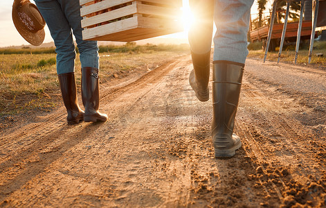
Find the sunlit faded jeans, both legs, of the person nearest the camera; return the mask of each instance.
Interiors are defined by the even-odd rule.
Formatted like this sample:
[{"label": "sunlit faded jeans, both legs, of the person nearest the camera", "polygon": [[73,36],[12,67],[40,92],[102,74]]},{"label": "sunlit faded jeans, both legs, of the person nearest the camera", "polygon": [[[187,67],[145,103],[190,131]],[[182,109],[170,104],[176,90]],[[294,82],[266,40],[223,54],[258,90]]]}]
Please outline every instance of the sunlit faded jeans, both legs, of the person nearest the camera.
[{"label": "sunlit faded jeans, both legs, of the person nearest the camera", "polygon": [[217,32],[213,60],[244,64],[248,55],[247,33],[252,5],[253,0],[190,0],[192,10],[199,13],[189,33],[192,52],[203,54],[210,51],[214,19]]}]

